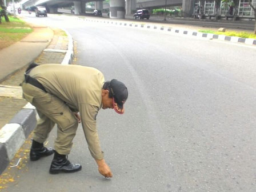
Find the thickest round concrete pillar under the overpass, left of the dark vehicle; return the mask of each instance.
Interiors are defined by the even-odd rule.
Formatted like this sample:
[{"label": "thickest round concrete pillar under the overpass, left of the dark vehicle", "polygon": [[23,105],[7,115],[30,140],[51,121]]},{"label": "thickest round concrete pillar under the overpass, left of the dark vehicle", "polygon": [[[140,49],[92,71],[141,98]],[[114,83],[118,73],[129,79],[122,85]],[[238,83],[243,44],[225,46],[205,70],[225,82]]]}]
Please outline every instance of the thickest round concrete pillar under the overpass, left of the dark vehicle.
[{"label": "thickest round concrete pillar under the overpass, left of the dark vehicle", "polygon": [[109,17],[113,19],[125,18],[125,0],[110,0],[109,2]]}]

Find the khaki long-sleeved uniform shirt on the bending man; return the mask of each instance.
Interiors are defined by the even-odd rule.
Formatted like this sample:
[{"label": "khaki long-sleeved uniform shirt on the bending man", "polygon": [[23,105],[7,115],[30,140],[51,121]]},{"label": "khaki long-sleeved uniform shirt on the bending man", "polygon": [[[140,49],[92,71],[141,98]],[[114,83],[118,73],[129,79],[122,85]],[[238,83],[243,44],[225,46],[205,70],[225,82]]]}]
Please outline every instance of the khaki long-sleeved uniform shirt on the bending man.
[{"label": "khaki long-sleeved uniform shirt on the bending man", "polygon": [[92,67],[79,65],[46,64],[31,70],[48,93],[57,96],[73,111],[79,111],[83,131],[91,155],[103,159],[96,128],[96,116],[102,103],[104,76]]}]

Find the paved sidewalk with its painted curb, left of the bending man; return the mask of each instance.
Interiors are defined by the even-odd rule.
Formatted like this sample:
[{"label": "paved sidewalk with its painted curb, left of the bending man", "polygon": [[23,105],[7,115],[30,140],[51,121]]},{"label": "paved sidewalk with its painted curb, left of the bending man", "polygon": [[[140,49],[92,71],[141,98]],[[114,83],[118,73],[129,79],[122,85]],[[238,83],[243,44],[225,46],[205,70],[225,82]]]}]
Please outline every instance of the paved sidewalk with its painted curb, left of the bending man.
[{"label": "paved sidewalk with its painted curb, left of the bending man", "polygon": [[27,65],[73,60],[73,39],[66,32],[46,26],[33,26],[33,33],[0,50],[0,174],[9,166],[36,125],[36,111],[22,98],[19,83]]}]

